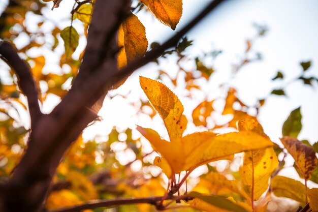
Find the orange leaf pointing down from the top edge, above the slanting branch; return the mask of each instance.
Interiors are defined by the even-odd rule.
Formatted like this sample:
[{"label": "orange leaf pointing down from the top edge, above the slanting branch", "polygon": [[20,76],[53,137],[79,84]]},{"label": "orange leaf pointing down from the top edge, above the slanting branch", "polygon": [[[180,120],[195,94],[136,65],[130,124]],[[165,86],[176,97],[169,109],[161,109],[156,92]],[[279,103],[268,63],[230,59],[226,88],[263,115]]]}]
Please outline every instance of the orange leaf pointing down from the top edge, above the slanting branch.
[{"label": "orange leaf pointing down from the top edge, above the slanting branch", "polygon": [[173,30],[176,28],[182,15],[182,0],[140,0],[140,2],[145,4],[163,24]]}]

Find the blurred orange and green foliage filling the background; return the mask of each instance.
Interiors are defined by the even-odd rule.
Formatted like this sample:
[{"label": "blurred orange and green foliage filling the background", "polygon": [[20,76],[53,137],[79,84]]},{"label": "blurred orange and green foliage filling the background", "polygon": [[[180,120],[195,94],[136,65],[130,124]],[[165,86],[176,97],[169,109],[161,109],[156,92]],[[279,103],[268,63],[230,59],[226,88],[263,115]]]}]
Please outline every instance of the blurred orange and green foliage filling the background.
[{"label": "blurred orange and green foliage filling the background", "polygon": [[[61,1],[53,2],[53,8],[56,8]],[[169,1],[164,2],[167,3],[165,6],[169,7]],[[23,35],[27,37],[24,46],[19,47],[17,50],[31,68],[34,80],[37,83],[38,89],[41,91],[40,99],[42,103],[46,101],[48,95],[55,95],[59,98],[65,96],[81,64],[84,50],[78,54],[78,58],[75,58],[73,53],[78,47],[80,38],[87,38],[87,29],[91,20],[94,3],[93,1],[75,1],[75,3],[73,10],[70,11],[71,24],[65,28],[59,28],[57,23],[46,18],[43,14],[43,9],[48,7],[48,4],[43,4],[42,1],[38,0],[10,1],[8,8],[0,18],[0,37],[2,39],[18,43],[17,40],[19,36]],[[181,17],[181,14],[173,14],[172,19],[167,19],[167,17],[156,8],[156,5],[151,5],[151,1],[141,1],[137,3],[133,1],[133,3],[136,5],[136,7],[132,8],[134,14],[142,10],[150,10],[158,20],[170,26],[172,29],[176,27]],[[163,10],[163,8],[161,8],[161,10]],[[164,10],[168,11],[167,8],[164,8]],[[176,11],[179,10],[180,8],[177,8]],[[35,28],[29,27],[30,20],[28,19],[31,17],[37,17],[37,22],[32,23]],[[123,23],[123,26],[121,26],[123,28],[123,34],[121,35],[122,43],[121,46],[119,46],[124,52],[123,57],[121,57],[121,59],[123,59],[123,65],[119,66],[120,68],[126,66],[127,63],[134,58],[142,56],[148,46],[142,23],[138,20],[137,16],[133,15],[131,17],[131,22],[126,21]],[[82,24],[84,33],[78,33],[75,26],[73,26],[73,21],[76,20]],[[138,27],[132,27],[134,24],[138,24]],[[236,74],[239,73],[245,65],[262,59],[261,54],[255,51],[253,47],[258,39],[266,35],[267,27],[255,24],[255,28],[257,31],[256,36],[245,41],[245,51],[242,52],[239,63],[233,66],[231,78],[235,78]],[[138,34],[141,31],[143,32],[142,35]],[[143,40],[143,46],[140,47],[139,50],[133,49],[132,46],[127,44],[129,41],[135,42],[135,44],[138,43],[138,39],[134,40],[136,37],[128,37],[130,33],[136,33],[135,35],[139,36],[137,36],[138,39]],[[61,41],[65,47],[65,51],[63,51],[62,54],[59,53],[58,48]],[[266,99],[270,97],[270,95],[285,96],[284,89],[295,81],[300,81],[304,85],[312,87],[316,87],[316,82],[318,82],[316,77],[313,75],[310,76],[311,62],[305,61],[300,63],[302,68],[300,76],[287,83],[280,83],[281,87],[274,88],[267,97],[256,100],[257,103],[255,105],[247,105],[241,101],[237,89],[227,82],[220,85],[220,90],[223,92],[223,95],[215,99],[210,99],[207,94],[204,94],[203,84],[211,81],[213,77],[217,77],[215,73],[217,73],[218,70],[214,62],[218,59],[218,56],[222,54],[222,51],[215,49],[211,52],[203,52],[201,55],[190,56],[188,49],[190,49],[192,44],[193,41],[184,37],[175,48],[167,50],[160,58],[156,59],[156,63],[161,64],[172,56],[176,58],[175,63],[178,68],[174,76],[167,70],[159,70],[157,80],[163,80],[166,84],[172,85],[171,87],[173,88],[181,87],[184,89],[184,96],[188,98],[188,101],[195,99],[195,92],[202,92],[203,96],[206,96],[206,98],[193,109],[189,117],[184,116],[185,120],[187,119],[185,124],[183,123],[185,128],[187,125],[193,125],[198,131],[204,130],[211,133],[218,133],[220,130],[236,130],[237,123],[241,123],[239,121],[242,120],[251,120],[250,123],[258,123],[257,116],[259,110],[264,106]],[[159,44],[155,42],[150,44],[149,48],[155,49],[158,45]],[[36,51],[38,55],[34,56],[30,53],[30,50]],[[47,57],[42,54],[44,50],[58,58],[60,71],[43,71],[48,65]],[[286,76],[287,73],[278,71],[272,80],[281,80],[282,82]],[[22,117],[19,115],[25,113],[27,107],[25,106],[25,98],[17,86],[17,78],[13,70],[7,68],[7,72],[0,75],[0,77],[3,78],[0,81],[0,181],[5,181],[10,177],[12,171],[14,171],[14,167],[18,164],[26,149],[28,126],[23,125]],[[150,84],[150,86],[154,85]],[[161,89],[169,90],[166,86],[161,86]],[[172,92],[167,93],[172,96],[174,95]],[[130,93],[122,97],[131,100],[129,95]],[[154,105],[153,102],[150,102],[143,99],[134,99],[131,100],[130,104],[135,107],[136,116],[146,115],[152,119],[155,117],[158,108],[154,109],[152,107],[152,105]],[[217,102],[224,103],[224,107],[219,109],[220,107],[215,105]],[[161,111],[161,113],[163,113],[163,111]],[[170,123],[171,120],[167,122]],[[248,125],[252,126],[256,124]],[[245,130],[257,131],[256,133],[267,138],[263,129],[262,131],[258,131],[256,130],[256,126],[251,126],[245,126]],[[318,169],[316,167],[316,156],[314,152],[312,152],[313,150],[311,151],[311,149],[314,149],[317,153],[317,143],[312,146],[310,142],[307,141],[305,147],[305,144],[300,144],[300,141],[297,140],[297,136],[301,128],[301,113],[300,108],[297,108],[292,111],[282,126],[282,135],[294,137],[285,138],[293,143],[284,144],[284,147],[294,157],[294,167],[300,177],[305,177],[305,179],[317,183]],[[124,139],[121,135],[125,135],[123,136]],[[296,141],[294,139],[296,139]],[[69,148],[57,168],[46,201],[47,208],[56,209],[72,206],[92,199],[162,196],[165,195],[169,189],[173,188],[173,183],[175,184],[174,186],[178,185],[182,178],[186,186],[180,185],[178,187],[178,193],[183,194],[192,190],[194,192],[192,192],[190,196],[195,197],[195,200],[181,203],[181,205],[190,205],[191,207],[187,207],[186,209],[172,209],[172,211],[197,211],[197,209],[215,211],[216,207],[218,207],[218,211],[251,211],[252,207],[253,211],[266,211],[267,203],[271,200],[271,198],[269,198],[271,193],[277,196],[295,199],[301,202],[302,205],[307,202],[307,197],[303,193],[300,193],[299,190],[295,190],[296,187],[299,187],[300,190],[305,191],[307,188],[305,188],[302,183],[290,178],[284,180],[284,178],[276,176],[278,172],[284,168],[286,154],[284,154],[283,151],[287,152],[277,144],[274,148],[269,148],[270,150],[246,152],[243,160],[244,166],[241,166],[240,172],[238,171],[238,167],[240,167],[242,161],[242,154],[236,155],[234,159],[231,160],[221,160],[219,163],[212,162],[204,164],[203,167],[208,170],[208,173],[202,173],[198,177],[189,177],[189,170],[183,171],[180,174],[173,174],[172,177],[168,176],[171,180],[171,187],[169,188],[167,176],[162,173],[160,168],[152,163],[158,154],[151,150],[145,151],[143,148],[144,141],[136,129],[126,128],[119,130],[115,126],[107,137],[101,138],[96,136],[96,139],[84,140],[80,136]],[[296,143],[300,147],[295,149],[293,146],[296,146]],[[158,152],[161,153],[160,151]],[[244,171],[252,167],[253,174],[258,174],[259,177],[261,174],[264,175],[264,172],[260,171],[261,169],[265,169],[265,164],[262,163],[267,163],[269,158],[276,158],[274,153],[279,157],[280,163],[278,167],[277,164],[275,164],[276,166],[273,167],[270,172],[265,173],[268,178],[273,179],[271,180],[270,186],[266,183],[261,185],[260,194],[256,198],[253,194],[251,195],[251,188],[258,189],[260,185],[257,185],[257,181],[250,180],[250,176],[246,175]],[[308,162],[306,160],[309,157],[308,154],[312,159],[310,167],[307,166],[308,164],[306,165]],[[123,163],[120,157],[126,155],[131,156],[129,157],[131,161]],[[281,157],[282,155],[284,155],[283,158]],[[268,156],[266,160],[265,156]],[[251,159],[255,161],[251,162]],[[219,164],[222,163],[226,165],[220,169]],[[256,173],[254,173],[254,170],[256,170]],[[248,180],[246,181],[246,179]],[[309,198],[314,197],[312,194],[317,194],[314,193],[316,192],[314,190],[310,190],[310,192],[311,197],[309,196]],[[262,196],[262,194],[264,195]],[[251,201],[253,198],[256,198],[258,201]],[[177,205],[180,204],[169,202],[169,206]],[[85,211],[104,211],[104,209],[98,208]],[[149,204],[139,204],[118,206],[116,210],[112,211],[150,212],[156,210]]]}]

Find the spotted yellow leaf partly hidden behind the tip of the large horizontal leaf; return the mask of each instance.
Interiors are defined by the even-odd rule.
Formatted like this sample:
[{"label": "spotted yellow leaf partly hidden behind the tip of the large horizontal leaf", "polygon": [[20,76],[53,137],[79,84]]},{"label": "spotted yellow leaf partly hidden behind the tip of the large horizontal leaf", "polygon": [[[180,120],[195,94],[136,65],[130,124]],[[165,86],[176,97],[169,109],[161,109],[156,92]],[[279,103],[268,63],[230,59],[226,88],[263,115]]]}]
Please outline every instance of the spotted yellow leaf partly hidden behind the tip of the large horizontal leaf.
[{"label": "spotted yellow leaf partly hidden behind the tip of the large horizontal leaf", "polygon": [[[255,132],[269,139],[255,119],[241,120],[238,129],[241,132]],[[272,147],[245,152],[243,166],[240,168],[241,183],[253,200],[258,200],[267,190],[269,178],[277,166],[278,159]]]}]

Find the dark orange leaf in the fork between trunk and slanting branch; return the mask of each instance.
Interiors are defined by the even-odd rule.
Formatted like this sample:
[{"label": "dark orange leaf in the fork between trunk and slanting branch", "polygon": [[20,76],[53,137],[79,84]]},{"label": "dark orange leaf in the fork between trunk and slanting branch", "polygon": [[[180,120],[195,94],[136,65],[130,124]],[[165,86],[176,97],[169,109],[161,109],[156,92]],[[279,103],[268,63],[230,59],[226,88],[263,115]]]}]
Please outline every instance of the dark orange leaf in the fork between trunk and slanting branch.
[{"label": "dark orange leaf in the fork between trunk and slanting branch", "polygon": [[[136,15],[131,14],[119,26],[117,44],[120,48],[117,55],[118,69],[122,69],[146,53],[148,48],[146,29]],[[126,79],[121,80],[114,88],[119,87]]]}]

